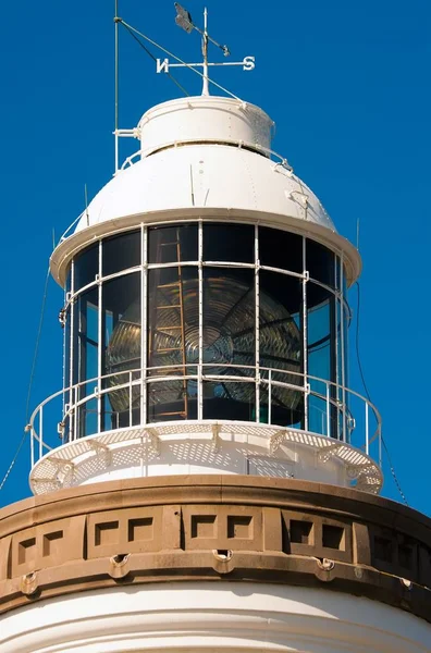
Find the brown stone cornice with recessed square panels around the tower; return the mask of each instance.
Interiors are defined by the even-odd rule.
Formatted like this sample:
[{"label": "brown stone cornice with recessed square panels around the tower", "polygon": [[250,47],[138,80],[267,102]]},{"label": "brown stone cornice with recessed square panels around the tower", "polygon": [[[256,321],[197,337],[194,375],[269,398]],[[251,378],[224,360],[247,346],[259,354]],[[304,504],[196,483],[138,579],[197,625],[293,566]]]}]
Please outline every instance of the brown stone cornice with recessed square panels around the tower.
[{"label": "brown stone cornice with recessed square panels around the tower", "polygon": [[116,584],[233,580],[364,595],[431,621],[431,520],[306,481],[113,481],[0,510],[0,612]]}]

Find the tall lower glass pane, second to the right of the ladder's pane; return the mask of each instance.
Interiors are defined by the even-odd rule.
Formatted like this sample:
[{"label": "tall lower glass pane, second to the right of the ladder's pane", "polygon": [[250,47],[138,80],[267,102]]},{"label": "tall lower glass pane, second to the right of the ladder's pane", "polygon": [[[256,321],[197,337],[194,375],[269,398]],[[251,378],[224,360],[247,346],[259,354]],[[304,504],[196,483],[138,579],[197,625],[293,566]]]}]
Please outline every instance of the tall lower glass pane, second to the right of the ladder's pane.
[{"label": "tall lower glass pane, second to the right of the ladder's pane", "polygon": [[260,421],[269,412],[269,395],[272,423],[295,424],[303,416],[303,392],[278,385],[304,385],[301,284],[285,274],[264,270],[259,273],[260,367],[262,379],[271,379],[271,384],[262,384]]}]

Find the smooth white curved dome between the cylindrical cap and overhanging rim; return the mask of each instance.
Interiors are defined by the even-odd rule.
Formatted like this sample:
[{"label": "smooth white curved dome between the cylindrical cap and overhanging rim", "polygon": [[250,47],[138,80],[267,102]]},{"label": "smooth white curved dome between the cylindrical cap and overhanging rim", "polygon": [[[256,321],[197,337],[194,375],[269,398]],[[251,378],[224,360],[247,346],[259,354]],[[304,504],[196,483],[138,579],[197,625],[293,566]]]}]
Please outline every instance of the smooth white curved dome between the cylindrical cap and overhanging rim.
[{"label": "smooth white curved dome between the cylindrical cap and overhanging rim", "polygon": [[121,171],[90,202],[76,232],[123,217],[200,207],[278,213],[335,231],[316,195],[280,163],[206,144],[172,147]]}]

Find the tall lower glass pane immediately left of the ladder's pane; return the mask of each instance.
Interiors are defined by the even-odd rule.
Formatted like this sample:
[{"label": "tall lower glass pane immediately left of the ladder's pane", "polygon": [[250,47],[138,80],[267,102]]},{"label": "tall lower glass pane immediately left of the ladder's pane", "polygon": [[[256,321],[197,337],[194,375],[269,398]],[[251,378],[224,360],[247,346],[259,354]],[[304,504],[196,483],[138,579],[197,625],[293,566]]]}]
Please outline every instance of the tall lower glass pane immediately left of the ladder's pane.
[{"label": "tall lower glass pane immediately left of the ladder's pane", "polygon": [[140,273],[119,276],[103,284],[102,373],[106,429],[128,427],[140,419]]}]

